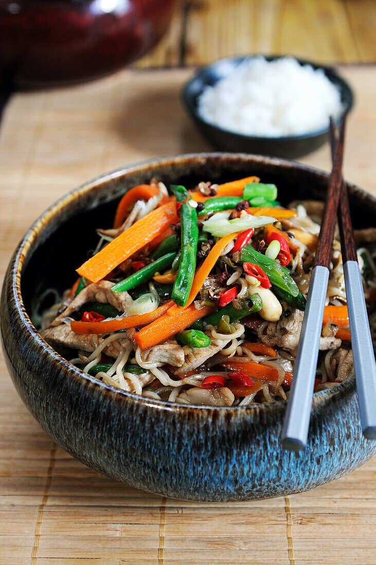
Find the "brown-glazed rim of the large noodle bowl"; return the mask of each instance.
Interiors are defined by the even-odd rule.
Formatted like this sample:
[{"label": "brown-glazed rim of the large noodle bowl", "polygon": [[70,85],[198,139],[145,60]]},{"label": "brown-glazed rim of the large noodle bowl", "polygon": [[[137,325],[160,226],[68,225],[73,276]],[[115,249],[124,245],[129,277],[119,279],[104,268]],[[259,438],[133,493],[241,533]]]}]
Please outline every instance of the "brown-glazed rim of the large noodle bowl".
[{"label": "brown-glazed rim of the large noodle bowl", "polygon": [[[302,171],[310,172],[310,173],[319,173],[319,175],[323,175],[329,178],[329,173],[325,171],[321,171],[320,169],[314,167],[308,167],[304,164],[295,163],[293,161],[279,159],[279,158],[272,158],[272,157],[265,157],[263,155],[252,155],[252,154],[245,154],[245,153],[192,153],[192,154],[184,154],[184,155],[176,155],[172,157],[162,157],[159,159],[152,159],[152,160],[145,160],[134,165],[121,167],[111,171],[109,173],[104,173],[103,175],[98,175],[94,177],[92,180],[84,182],[77,188],[71,190],[67,194],[63,195],[57,201],[55,201],[51,206],[46,208],[44,212],[34,221],[28,231],[25,233],[23,239],[20,241],[18,247],[15,250],[14,257],[11,260],[10,264],[10,273],[8,275],[8,279],[11,279],[12,285],[12,294],[15,301],[15,306],[19,314],[19,319],[23,325],[25,331],[29,333],[31,338],[37,344],[38,348],[46,351],[47,354],[50,355],[51,360],[54,363],[57,363],[66,373],[66,376],[70,379],[80,379],[82,384],[85,383],[92,384],[97,388],[101,389],[103,393],[110,393],[113,399],[117,402],[128,402],[132,401],[138,404],[142,404],[144,406],[149,406],[150,408],[159,408],[165,409],[168,411],[200,411],[200,412],[207,412],[208,414],[215,411],[228,411],[232,412],[232,414],[238,414],[239,417],[241,414],[247,412],[250,414],[251,412],[267,412],[270,410],[273,411],[280,411],[284,412],[286,408],[287,401],[276,401],[273,403],[265,403],[260,405],[253,405],[253,406],[197,406],[197,405],[180,405],[174,402],[167,402],[158,399],[151,399],[147,397],[139,396],[138,394],[127,392],[125,390],[121,390],[116,388],[113,385],[103,383],[102,381],[96,379],[96,377],[89,375],[88,373],[84,373],[78,367],[70,363],[67,359],[62,357],[57,351],[53,349],[47,342],[42,338],[41,334],[37,331],[37,329],[32,324],[29,315],[24,306],[22,294],[21,294],[21,273],[24,267],[25,258],[27,257],[29,248],[31,247],[34,241],[37,241],[38,235],[46,227],[46,225],[53,221],[56,215],[59,214],[65,207],[74,206],[74,203],[77,199],[92,192],[101,184],[105,184],[108,181],[116,179],[118,177],[136,173],[147,171],[148,169],[155,167],[155,166],[166,166],[168,164],[173,165],[174,163],[177,164],[179,161],[183,162],[184,160],[192,160],[192,159],[205,159],[205,158],[224,158],[224,159],[245,159],[245,160],[252,160],[253,162],[260,161],[262,163],[267,162],[267,164],[274,164],[276,166],[283,165],[286,167],[291,168],[299,168]],[[358,188],[355,185],[350,185],[355,189],[359,194],[363,195],[364,197],[368,197],[371,200],[375,200],[376,198],[373,195],[366,193],[364,190]],[[116,195],[109,195],[108,201],[111,201],[116,198]],[[344,383],[340,383],[332,388],[321,390],[319,392],[314,393],[313,395],[313,405],[318,407],[323,405],[325,401],[329,400],[333,396],[337,394],[347,394],[348,392],[353,392],[355,390],[355,379],[351,379],[349,381],[345,381]]]}]

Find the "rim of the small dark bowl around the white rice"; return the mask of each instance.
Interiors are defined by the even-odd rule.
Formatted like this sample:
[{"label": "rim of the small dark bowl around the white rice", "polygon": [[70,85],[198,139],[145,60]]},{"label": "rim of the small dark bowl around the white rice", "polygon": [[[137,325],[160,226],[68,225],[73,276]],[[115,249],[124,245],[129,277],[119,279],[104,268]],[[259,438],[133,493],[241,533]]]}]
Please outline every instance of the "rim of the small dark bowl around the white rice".
[{"label": "rim of the small dark bowl around the white rice", "polygon": [[[218,67],[221,64],[224,64],[226,62],[233,62],[233,63],[235,63],[236,66],[238,66],[243,61],[254,59],[257,56],[260,56],[260,54],[244,55],[244,56],[237,56],[237,57],[229,56],[229,57],[224,57],[222,59],[217,59],[214,62],[209,63],[208,65],[205,65],[204,67],[200,67],[200,69],[198,69],[198,71],[195,73],[195,75],[185,83],[183,90],[181,92],[181,98],[183,99],[184,106],[187,108],[188,113],[192,116],[192,118],[195,119],[196,121],[202,123],[202,124],[209,126],[214,131],[226,133],[227,135],[236,137],[237,140],[243,141],[243,142],[245,142],[245,141],[255,141],[255,142],[257,142],[257,141],[275,141],[275,142],[304,141],[304,140],[309,140],[311,138],[319,137],[319,136],[322,136],[323,134],[328,133],[329,132],[329,125],[328,125],[327,128],[321,128],[321,129],[317,129],[313,132],[301,133],[301,134],[291,135],[291,136],[248,136],[248,135],[245,135],[244,133],[238,133],[238,132],[236,132],[232,129],[222,128],[221,126],[216,125],[213,122],[206,120],[205,118],[203,118],[199,114],[199,112],[197,111],[197,102],[196,102],[197,95],[193,94],[191,92],[192,85],[194,85],[195,82],[198,79],[202,79],[202,77],[205,77],[208,74],[208,71],[210,71],[210,69],[215,69],[215,67]],[[284,57],[289,56],[289,55],[262,55],[262,56],[265,56],[265,59],[267,61],[272,61],[272,60],[276,60],[276,59],[283,59]],[[345,94],[345,97],[348,98],[347,101],[346,100],[342,101],[344,112],[350,112],[352,110],[352,108],[354,106],[354,100],[355,100],[353,90],[352,90],[351,86],[348,84],[348,82],[345,81],[342,78],[342,76],[340,76],[336,72],[334,67],[327,66],[327,65],[321,65],[321,64],[314,63],[314,62],[306,60],[306,59],[296,59],[296,60],[301,66],[308,64],[308,65],[312,66],[314,69],[322,69],[325,72],[326,77],[330,80],[330,82],[332,82],[332,84],[334,84],[337,88],[339,88],[340,94],[341,94],[341,99],[343,97],[343,94]],[[206,81],[203,80],[202,82],[205,83]],[[218,80],[215,81],[215,82],[218,82]],[[208,83],[206,82],[206,84],[208,84]],[[339,118],[337,118],[335,120],[337,125],[340,121],[340,117],[341,116],[339,116]]]}]

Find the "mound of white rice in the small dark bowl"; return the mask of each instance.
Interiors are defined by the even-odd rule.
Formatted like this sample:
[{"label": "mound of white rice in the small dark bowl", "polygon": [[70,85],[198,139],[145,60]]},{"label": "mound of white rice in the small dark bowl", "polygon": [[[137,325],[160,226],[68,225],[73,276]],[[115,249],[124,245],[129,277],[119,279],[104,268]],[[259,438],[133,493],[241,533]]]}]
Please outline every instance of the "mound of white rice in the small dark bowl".
[{"label": "mound of white rice in the small dark bowl", "polygon": [[282,137],[329,127],[342,113],[339,90],[322,69],[284,57],[246,59],[198,99],[211,124],[250,136]]}]

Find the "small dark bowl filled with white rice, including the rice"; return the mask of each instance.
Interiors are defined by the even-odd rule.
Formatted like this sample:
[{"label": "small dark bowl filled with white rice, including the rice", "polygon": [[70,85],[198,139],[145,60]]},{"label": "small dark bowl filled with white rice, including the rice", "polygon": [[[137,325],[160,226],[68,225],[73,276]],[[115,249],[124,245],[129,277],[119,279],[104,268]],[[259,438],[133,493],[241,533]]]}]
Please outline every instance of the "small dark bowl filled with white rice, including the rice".
[{"label": "small dark bowl filled with white rice, including the rice", "polygon": [[327,141],[353,93],[332,68],[292,57],[226,58],[202,68],[183,100],[219,150],[295,159]]}]

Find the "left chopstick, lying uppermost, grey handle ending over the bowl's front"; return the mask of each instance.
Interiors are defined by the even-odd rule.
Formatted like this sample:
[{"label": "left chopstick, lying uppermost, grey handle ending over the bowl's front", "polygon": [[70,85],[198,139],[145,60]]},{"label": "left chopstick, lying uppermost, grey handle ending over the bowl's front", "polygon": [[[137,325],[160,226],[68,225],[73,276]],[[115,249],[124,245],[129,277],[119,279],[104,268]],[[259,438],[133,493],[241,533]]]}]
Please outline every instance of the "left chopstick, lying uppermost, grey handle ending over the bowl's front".
[{"label": "left chopstick, lying uppermost, grey handle ending over the bowl's front", "polygon": [[329,280],[332,241],[342,189],[345,121],[346,116],[344,115],[339,128],[339,141],[336,146],[334,165],[326,194],[318,249],[309,284],[291,390],[282,430],[282,445],[285,449],[291,451],[304,449],[308,438],[314,378],[316,375],[322,319]]}]

